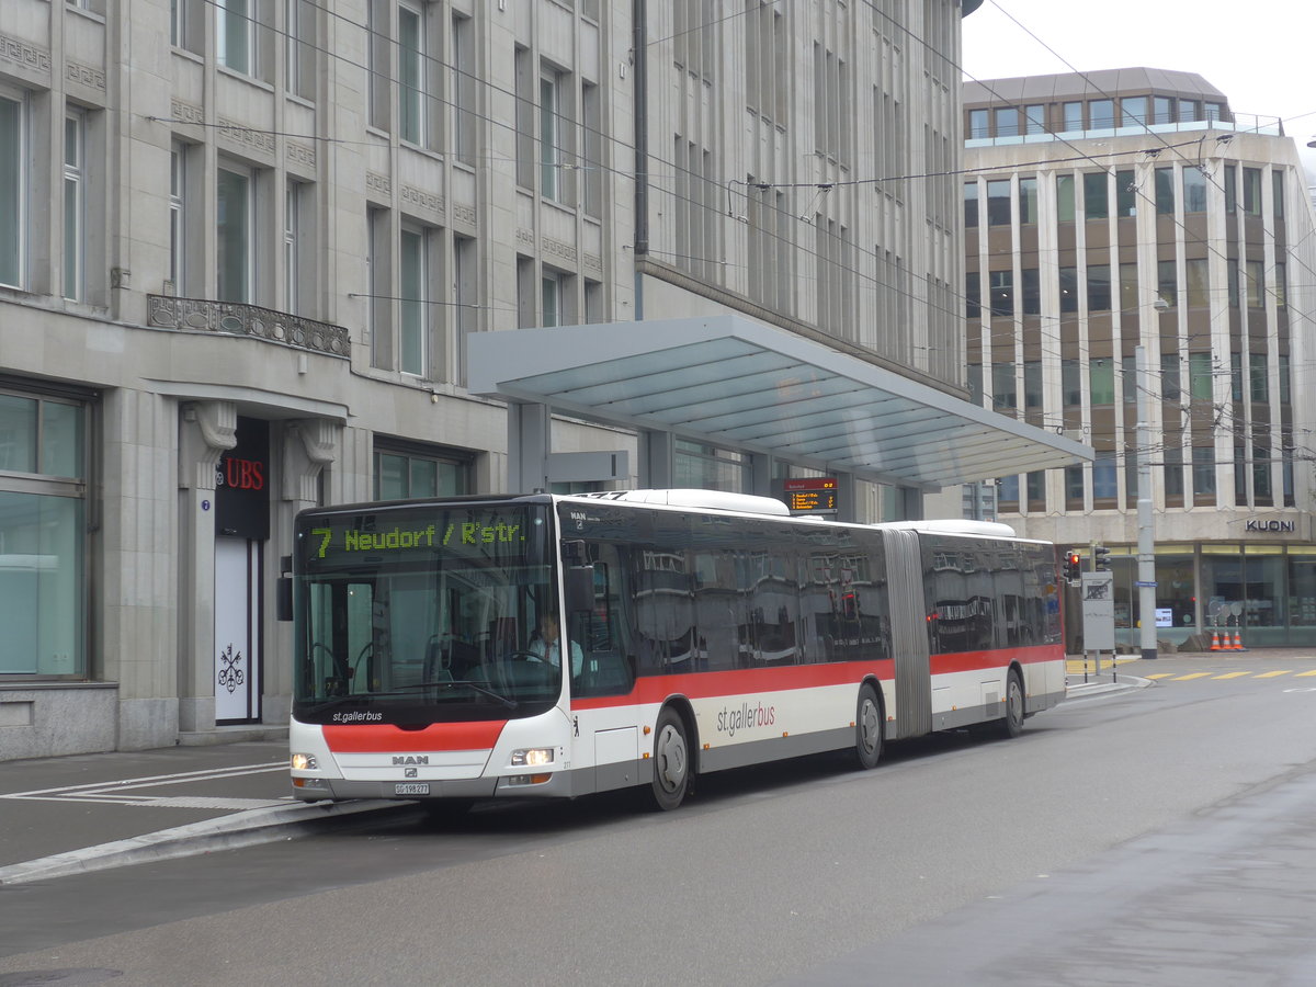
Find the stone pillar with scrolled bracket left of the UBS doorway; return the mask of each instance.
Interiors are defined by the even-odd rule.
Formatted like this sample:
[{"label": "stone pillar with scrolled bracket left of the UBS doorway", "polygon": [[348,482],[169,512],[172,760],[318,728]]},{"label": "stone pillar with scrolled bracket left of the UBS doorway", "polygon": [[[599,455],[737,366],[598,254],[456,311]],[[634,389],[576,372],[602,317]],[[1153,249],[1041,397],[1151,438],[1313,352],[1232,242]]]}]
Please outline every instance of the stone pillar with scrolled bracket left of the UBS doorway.
[{"label": "stone pillar with scrolled bracket left of the UBS doorway", "polygon": [[179,422],[178,719],[183,732],[215,729],[215,474],[237,445],[232,401],[183,405]]}]

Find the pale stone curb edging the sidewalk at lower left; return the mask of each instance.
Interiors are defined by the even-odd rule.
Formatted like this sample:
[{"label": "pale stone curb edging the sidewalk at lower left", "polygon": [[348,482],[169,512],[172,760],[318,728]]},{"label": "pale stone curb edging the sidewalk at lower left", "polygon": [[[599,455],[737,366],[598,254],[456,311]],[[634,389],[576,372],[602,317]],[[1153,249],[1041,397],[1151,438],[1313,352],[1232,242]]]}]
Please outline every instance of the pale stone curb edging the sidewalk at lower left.
[{"label": "pale stone curb edging the sidewalk at lower left", "polygon": [[290,830],[308,830],[326,819],[354,816],[383,808],[397,808],[397,803],[387,799],[362,799],[355,801],[300,803],[296,805],[275,805],[271,808],[247,809],[229,816],[190,822],[186,826],[159,829],[154,833],[134,836],[128,840],[114,840],[108,844],[87,846],[82,850],[57,853],[34,861],[12,863],[0,867],[0,887],[26,884],[33,880],[66,878],[72,874],[124,867],[132,863],[168,861],[178,857],[192,857],[216,850],[234,850],[242,846],[268,844],[275,840],[291,838]]}]

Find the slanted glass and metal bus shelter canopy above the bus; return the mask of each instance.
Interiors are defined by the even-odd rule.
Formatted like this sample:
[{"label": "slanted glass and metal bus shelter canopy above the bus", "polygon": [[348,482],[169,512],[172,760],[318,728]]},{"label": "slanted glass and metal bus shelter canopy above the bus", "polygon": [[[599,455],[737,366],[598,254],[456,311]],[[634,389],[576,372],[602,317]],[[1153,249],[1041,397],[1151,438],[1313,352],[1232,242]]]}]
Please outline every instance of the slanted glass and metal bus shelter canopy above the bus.
[{"label": "slanted glass and metal bus shelter canopy above the bus", "polygon": [[934,490],[1090,446],[740,316],[467,337],[472,393]]}]

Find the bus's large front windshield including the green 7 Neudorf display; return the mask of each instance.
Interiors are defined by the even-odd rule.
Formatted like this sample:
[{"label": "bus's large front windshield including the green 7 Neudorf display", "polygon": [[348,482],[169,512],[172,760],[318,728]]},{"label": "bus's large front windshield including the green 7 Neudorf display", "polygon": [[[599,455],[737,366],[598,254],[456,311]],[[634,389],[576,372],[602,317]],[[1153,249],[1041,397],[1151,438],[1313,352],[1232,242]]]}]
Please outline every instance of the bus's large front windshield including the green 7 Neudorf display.
[{"label": "bus's large front windshield including the green 7 Neudorf display", "polygon": [[[301,722],[530,716],[562,690],[546,504],[401,504],[297,521]],[[547,654],[546,654],[547,653]]]}]

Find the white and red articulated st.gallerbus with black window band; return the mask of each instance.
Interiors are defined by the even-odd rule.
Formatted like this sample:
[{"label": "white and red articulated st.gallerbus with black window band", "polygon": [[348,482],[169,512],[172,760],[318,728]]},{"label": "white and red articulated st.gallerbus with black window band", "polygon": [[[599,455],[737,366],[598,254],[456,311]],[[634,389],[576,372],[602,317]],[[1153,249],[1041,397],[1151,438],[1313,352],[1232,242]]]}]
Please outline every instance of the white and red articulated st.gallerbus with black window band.
[{"label": "white and red articulated st.gallerbus with black window band", "polygon": [[[1065,697],[1051,545],[711,491],[303,512],[293,794],[565,796],[990,724]],[[551,616],[566,644],[553,644]],[[546,634],[550,641],[545,641]]]}]

